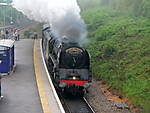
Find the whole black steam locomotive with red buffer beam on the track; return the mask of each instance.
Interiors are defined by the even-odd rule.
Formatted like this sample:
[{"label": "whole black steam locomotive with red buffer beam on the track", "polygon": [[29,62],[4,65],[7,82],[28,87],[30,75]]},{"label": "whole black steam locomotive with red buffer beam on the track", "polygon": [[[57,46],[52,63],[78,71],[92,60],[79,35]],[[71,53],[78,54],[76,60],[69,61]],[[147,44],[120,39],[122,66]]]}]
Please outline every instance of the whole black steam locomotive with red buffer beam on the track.
[{"label": "whole black steam locomotive with red buffer beam on the track", "polygon": [[88,52],[66,37],[56,38],[48,26],[42,31],[42,49],[55,87],[84,95],[92,81]]}]

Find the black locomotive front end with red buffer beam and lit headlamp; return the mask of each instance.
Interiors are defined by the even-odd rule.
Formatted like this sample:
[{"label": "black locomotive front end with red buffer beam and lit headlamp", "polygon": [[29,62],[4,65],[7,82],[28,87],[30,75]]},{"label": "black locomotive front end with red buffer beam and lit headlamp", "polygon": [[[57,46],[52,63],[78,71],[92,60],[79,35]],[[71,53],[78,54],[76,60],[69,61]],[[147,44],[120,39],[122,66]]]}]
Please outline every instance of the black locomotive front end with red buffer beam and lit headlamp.
[{"label": "black locomotive front end with red buffer beam and lit headlamp", "polygon": [[88,52],[79,47],[66,48],[60,54],[59,87],[82,91],[90,87],[92,75]]}]

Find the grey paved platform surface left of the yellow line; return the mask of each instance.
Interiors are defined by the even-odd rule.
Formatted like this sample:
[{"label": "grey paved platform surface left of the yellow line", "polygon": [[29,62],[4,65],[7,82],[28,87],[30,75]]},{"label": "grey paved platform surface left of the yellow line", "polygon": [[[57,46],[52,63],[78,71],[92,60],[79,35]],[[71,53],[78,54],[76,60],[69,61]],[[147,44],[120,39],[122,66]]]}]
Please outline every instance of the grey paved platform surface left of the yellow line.
[{"label": "grey paved platform surface left of the yellow line", "polygon": [[0,113],[43,113],[34,71],[34,41],[20,40],[15,46],[16,70],[2,79]]}]

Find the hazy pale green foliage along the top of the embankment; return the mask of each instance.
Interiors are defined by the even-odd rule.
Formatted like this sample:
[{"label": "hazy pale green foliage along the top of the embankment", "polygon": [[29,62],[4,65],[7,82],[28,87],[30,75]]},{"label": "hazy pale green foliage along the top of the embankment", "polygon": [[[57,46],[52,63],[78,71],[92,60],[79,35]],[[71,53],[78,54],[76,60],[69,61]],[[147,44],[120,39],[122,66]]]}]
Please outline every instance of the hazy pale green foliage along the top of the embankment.
[{"label": "hazy pale green foliage along the top of the embankment", "polygon": [[150,18],[150,0],[78,0],[81,9],[107,6],[124,15]]}]

